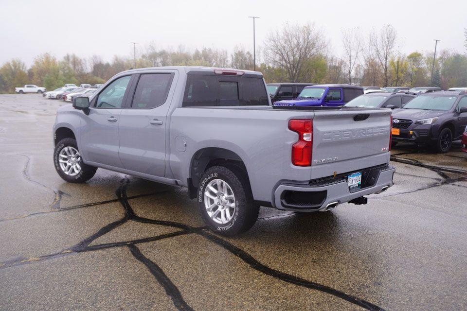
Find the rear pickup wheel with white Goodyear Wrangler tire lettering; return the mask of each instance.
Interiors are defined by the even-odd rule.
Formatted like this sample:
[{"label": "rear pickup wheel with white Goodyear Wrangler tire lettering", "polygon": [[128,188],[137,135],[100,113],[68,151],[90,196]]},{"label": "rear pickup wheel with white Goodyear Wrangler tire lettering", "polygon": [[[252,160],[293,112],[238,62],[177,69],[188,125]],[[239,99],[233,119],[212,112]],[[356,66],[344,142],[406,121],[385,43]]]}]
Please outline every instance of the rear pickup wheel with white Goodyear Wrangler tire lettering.
[{"label": "rear pickup wheel with white Goodyear Wrangler tire lettering", "polygon": [[259,213],[246,174],[221,165],[208,168],[201,177],[198,206],[206,225],[224,236],[247,231]]}]

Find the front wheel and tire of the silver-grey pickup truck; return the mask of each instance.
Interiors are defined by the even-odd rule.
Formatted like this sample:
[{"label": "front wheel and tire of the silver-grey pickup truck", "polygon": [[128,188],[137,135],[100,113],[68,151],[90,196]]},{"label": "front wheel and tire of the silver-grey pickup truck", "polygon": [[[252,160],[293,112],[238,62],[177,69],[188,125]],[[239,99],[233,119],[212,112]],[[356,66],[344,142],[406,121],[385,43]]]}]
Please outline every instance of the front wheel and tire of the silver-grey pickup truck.
[{"label": "front wheel and tire of the silver-grey pickup truck", "polygon": [[56,144],[54,166],[58,175],[69,183],[84,183],[97,171],[96,167],[84,164],[74,138],[63,138]]}]

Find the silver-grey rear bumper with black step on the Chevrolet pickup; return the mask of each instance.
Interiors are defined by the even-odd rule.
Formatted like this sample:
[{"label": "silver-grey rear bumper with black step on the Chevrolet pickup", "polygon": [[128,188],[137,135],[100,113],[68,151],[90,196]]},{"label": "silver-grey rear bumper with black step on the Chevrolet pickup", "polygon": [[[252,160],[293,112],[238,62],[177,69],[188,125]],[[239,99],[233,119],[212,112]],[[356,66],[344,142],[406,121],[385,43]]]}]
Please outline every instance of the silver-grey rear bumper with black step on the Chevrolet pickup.
[{"label": "silver-grey rear bumper with black step on the Chevrolet pickup", "polygon": [[328,177],[307,185],[282,183],[273,195],[274,206],[282,210],[292,211],[324,211],[328,205],[347,203],[363,195],[382,192],[393,185],[395,167],[382,165],[360,170],[363,172],[362,188],[349,190],[346,176],[341,174],[335,178]]}]

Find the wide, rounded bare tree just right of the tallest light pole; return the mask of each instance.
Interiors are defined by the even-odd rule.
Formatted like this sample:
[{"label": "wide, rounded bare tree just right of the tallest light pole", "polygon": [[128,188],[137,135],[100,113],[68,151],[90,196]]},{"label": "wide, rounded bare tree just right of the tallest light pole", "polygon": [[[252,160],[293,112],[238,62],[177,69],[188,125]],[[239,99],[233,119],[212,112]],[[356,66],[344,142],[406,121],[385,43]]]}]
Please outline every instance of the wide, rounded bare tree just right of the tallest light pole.
[{"label": "wide, rounded bare tree just right of the tallest light pole", "polygon": [[265,41],[265,59],[270,65],[283,68],[290,82],[298,82],[304,75],[305,62],[326,48],[324,37],[314,24],[287,23],[282,30],[269,33]]}]

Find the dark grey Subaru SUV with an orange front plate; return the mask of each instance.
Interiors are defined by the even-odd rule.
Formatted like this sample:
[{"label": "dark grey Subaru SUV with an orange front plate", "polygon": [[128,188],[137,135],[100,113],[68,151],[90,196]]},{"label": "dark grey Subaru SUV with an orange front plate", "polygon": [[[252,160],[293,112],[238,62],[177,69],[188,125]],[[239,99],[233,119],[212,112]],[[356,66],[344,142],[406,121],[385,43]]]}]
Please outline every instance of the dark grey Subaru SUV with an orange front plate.
[{"label": "dark grey Subaru SUV with an orange front plate", "polygon": [[467,92],[421,94],[393,112],[393,146],[398,141],[431,143],[446,153],[467,125]]}]

